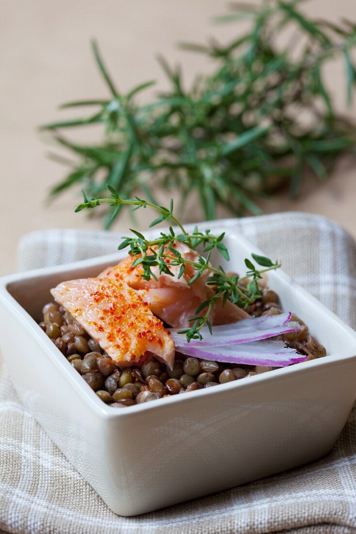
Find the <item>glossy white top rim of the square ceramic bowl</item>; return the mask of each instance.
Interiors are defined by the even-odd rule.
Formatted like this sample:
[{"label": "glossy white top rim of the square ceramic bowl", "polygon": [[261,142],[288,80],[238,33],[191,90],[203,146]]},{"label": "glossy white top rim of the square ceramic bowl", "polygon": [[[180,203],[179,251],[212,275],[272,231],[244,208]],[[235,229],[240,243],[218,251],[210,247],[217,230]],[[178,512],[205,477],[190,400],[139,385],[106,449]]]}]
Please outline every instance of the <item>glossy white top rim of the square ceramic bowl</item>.
[{"label": "glossy white top rim of the square ceramic bowl", "polygon": [[[226,227],[223,225],[221,225],[220,227],[218,225],[214,226],[215,231],[225,232],[228,237],[238,239],[244,246],[250,249],[250,252],[263,255],[263,252],[258,247],[251,244],[248,239],[243,237],[241,234],[236,234],[236,232],[234,232],[233,230],[233,227]],[[165,229],[162,228],[159,231],[164,230]],[[157,233],[157,231],[150,232],[150,234],[152,235],[154,235],[155,233]],[[118,239],[120,239],[120,237],[118,237]],[[164,409],[164,407],[167,407],[172,403],[191,402],[192,400],[194,400],[194,398],[204,397],[205,395],[217,395],[219,393],[224,393],[225,391],[229,391],[231,389],[250,387],[259,382],[279,380],[283,376],[288,376],[292,373],[305,373],[308,372],[308,370],[313,369],[314,367],[330,366],[335,365],[336,363],[341,362],[342,360],[352,358],[356,359],[356,332],[350,326],[346,325],[344,321],[339,319],[334,312],[330,311],[318,299],[316,299],[313,295],[307,292],[306,289],[300,286],[298,282],[292,279],[286,272],[284,272],[282,269],[279,269],[278,271],[274,271],[272,273],[273,276],[283,280],[284,282],[287,282],[288,285],[292,286],[292,292],[298,292],[302,294],[308,302],[316,305],[321,313],[328,316],[329,320],[333,320],[339,328],[344,329],[345,333],[347,333],[353,339],[354,345],[352,349],[344,352],[338,352],[337,354],[330,354],[315,360],[300,362],[297,365],[280,367],[278,369],[273,370],[273,373],[260,373],[254,376],[250,376],[248,380],[236,380],[225,384],[219,384],[219,388],[202,388],[199,390],[191,391],[190,395],[187,396],[172,395],[164,399],[162,398],[153,400],[149,403],[126,406],[125,409],[121,410],[112,408],[111,406],[108,406],[103,403],[102,400],[100,400],[99,397],[95,394],[95,392],[88,386],[88,384],[86,384],[85,381],[82,380],[81,376],[77,373],[73,366],[69,364],[64,355],[61,354],[61,352],[57,349],[57,347],[49,339],[49,337],[46,336],[43,330],[38,327],[38,324],[36,323],[35,319],[33,319],[29,315],[29,313],[24,308],[22,308],[22,306],[17,302],[17,300],[15,300],[15,298],[10,294],[8,288],[10,284],[22,280],[36,279],[38,277],[45,277],[51,274],[58,274],[61,272],[90,268],[99,264],[101,265],[106,262],[108,265],[110,264],[110,262],[117,263],[117,261],[125,255],[125,251],[122,250],[117,251],[116,253],[95,256],[86,260],[80,260],[72,263],[48,266],[30,271],[8,274],[0,278],[0,303],[4,305],[4,307],[8,311],[10,311],[14,317],[18,316],[18,320],[20,321],[21,326],[26,328],[31,337],[33,337],[33,339],[37,341],[37,343],[39,343],[41,347],[51,355],[53,363],[57,366],[58,370],[60,370],[62,374],[67,375],[69,382],[76,386],[77,394],[80,395],[85,404],[101,418],[112,419],[117,417],[134,417],[135,414],[138,415],[140,412],[145,410],[157,410],[159,409],[159,407]]]}]

